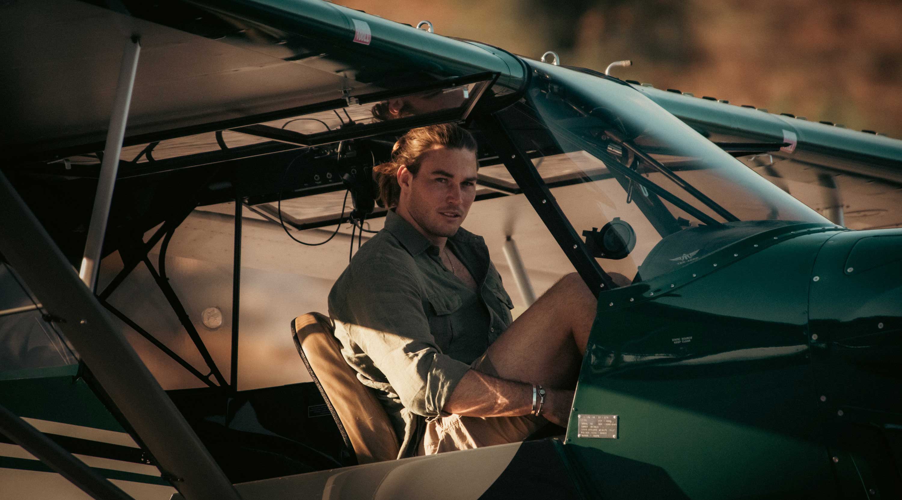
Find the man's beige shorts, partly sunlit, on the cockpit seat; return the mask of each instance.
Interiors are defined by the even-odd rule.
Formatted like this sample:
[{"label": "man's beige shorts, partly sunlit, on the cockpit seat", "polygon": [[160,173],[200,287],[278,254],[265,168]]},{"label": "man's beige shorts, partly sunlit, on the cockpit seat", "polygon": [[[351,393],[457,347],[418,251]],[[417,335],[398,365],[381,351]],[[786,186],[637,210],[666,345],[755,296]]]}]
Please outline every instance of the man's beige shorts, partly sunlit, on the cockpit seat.
[{"label": "man's beige shorts, partly sunlit, on the cockpit seat", "polygon": [[[498,377],[492,361],[485,354],[476,359],[470,367],[486,375]],[[544,418],[533,415],[473,417],[452,414],[439,417],[426,423],[426,432],[418,454],[433,455],[445,451],[469,450],[523,441],[546,423],[548,421]]]}]

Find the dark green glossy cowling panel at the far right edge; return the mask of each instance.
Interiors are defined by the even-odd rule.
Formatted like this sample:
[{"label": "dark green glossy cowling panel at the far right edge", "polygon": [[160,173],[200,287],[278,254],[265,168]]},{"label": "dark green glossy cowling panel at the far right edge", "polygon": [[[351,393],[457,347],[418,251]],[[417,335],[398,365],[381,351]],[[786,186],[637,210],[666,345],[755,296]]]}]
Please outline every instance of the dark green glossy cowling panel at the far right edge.
[{"label": "dark green glossy cowling panel at the far right edge", "polygon": [[838,234],[814,274],[812,361],[838,486],[902,498],[902,230]]}]

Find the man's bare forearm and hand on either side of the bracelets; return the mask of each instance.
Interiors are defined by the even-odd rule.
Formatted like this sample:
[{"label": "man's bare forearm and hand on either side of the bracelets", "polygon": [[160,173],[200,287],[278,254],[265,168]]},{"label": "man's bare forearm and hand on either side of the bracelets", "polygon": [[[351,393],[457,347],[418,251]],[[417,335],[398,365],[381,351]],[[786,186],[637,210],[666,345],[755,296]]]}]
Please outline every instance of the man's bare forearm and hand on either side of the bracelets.
[{"label": "man's bare forearm and hand on either side of the bracelets", "polygon": [[[545,390],[542,416],[566,427],[573,391],[548,387]],[[471,369],[457,383],[443,409],[450,414],[478,417],[528,415],[532,410],[532,385]]]}]

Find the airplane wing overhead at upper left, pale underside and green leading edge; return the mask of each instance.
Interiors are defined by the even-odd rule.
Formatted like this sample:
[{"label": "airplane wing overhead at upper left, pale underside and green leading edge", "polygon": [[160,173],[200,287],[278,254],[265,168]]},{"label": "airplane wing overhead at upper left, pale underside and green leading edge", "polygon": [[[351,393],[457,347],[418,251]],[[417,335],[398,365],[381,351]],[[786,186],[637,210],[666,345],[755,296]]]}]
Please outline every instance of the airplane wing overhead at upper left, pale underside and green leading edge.
[{"label": "airplane wing overhead at upper left, pale underside and green leading edge", "polygon": [[125,146],[481,72],[498,75],[497,95],[524,77],[502,50],[327,2],[92,4],[0,7],[0,155],[7,166],[103,150],[131,36],[140,37],[142,52]]}]

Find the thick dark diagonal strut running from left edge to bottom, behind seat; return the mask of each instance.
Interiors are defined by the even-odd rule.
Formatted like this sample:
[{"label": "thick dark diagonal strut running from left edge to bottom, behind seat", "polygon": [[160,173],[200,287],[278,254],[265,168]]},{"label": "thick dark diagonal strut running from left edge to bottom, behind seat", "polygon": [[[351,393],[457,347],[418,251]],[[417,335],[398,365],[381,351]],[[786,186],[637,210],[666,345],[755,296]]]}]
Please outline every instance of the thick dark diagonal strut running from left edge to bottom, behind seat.
[{"label": "thick dark diagonal strut running from left edge to bottom, behind seat", "polygon": [[169,395],[78,278],[22,197],[0,172],[0,253],[23,277],[97,382],[188,500],[239,500],[222,469]]}]

